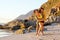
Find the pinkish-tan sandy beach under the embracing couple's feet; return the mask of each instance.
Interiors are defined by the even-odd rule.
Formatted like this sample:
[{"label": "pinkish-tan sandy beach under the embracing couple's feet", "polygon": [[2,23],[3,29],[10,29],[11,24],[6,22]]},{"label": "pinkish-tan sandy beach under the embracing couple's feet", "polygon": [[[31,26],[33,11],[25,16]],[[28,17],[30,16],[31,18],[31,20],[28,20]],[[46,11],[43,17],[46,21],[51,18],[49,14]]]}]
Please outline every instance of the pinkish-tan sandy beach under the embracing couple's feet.
[{"label": "pinkish-tan sandy beach under the embracing couple's feet", "polygon": [[60,40],[60,24],[52,24],[45,26],[47,30],[44,31],[44,35],[36,36],[35,32],[26,34],[13,34],[6,37],[1,37],[0,40]]}]

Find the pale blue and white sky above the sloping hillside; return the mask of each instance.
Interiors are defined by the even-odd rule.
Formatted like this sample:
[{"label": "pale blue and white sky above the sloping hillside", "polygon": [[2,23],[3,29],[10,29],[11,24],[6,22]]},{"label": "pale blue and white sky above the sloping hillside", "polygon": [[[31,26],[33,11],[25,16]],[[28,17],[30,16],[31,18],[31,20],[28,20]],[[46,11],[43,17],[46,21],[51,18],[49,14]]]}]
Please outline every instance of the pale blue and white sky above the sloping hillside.
[{"label": "pale blue and white sky above the sloping hillside", "polygon": [[0,0],[0,23],[7,23],[31,10],[40,8],[47,0]]}]

